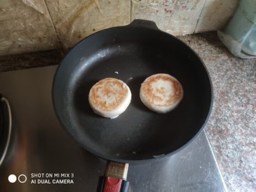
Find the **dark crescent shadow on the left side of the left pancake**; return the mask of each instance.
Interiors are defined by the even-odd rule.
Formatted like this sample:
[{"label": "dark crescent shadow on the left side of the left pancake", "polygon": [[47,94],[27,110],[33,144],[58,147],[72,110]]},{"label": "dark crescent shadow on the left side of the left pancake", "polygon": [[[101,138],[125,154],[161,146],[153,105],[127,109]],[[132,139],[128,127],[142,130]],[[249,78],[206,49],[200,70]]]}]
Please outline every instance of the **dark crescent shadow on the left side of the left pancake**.
[{"label": "dark crescent shadow on the left side of the left pancake", "polygon": [[99,117],[94,113],[88,101],[90,89],[97,81],[98,80],[81,81],[81,83],[76,82],[78,85],[76,86],[76,90],[74,90],[74,106],[79,113],[91,117]]}]

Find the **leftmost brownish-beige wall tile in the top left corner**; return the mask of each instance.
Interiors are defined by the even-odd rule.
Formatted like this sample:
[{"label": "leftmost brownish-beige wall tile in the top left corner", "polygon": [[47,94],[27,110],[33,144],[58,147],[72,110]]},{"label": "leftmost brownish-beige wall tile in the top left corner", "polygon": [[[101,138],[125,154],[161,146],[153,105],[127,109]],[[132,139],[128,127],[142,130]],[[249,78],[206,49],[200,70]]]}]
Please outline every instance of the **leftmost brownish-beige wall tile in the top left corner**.
[{"label": "leftmost brownish-beige wall tile in the top left corner", "polygon": [[0,55],[58,47],[44,0],[0,1]]}]

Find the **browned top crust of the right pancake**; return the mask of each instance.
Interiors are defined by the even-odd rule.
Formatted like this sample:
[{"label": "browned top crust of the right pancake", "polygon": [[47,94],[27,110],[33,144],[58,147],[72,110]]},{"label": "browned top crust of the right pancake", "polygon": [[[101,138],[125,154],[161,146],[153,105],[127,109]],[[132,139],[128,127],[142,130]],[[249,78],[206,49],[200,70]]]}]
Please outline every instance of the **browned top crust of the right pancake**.
[{"label": "browned top crust of the right pancake", "polygon": [[[155,101],[162,101],[160,96],[155,95],[153,93],[153,87],[151,86],[152,83],[157,82],[158,80],[169,81],[172,83],[172,86],[173,86],[173,90],[174,90],[173,94],[169,96],[168,100],[166,100],[164,104],[155,103]],[[148,79],[146,79],[142,84],[142,91],[143,91],[145,100],[148,103],[151,103],[153,105],[160,106],[160,107],[167,107],[170,105],[174,105],[175,103],[179,102],[183,96],[183,90],[180,82],[178,82],[178,80],[172,76],[163,75],[163,74],[150,76]],[[167,93],[163,89],[163,87],[161,87],[160,89],[157,88],[156,91],[162,94],[164,97],[166,97]]]}]

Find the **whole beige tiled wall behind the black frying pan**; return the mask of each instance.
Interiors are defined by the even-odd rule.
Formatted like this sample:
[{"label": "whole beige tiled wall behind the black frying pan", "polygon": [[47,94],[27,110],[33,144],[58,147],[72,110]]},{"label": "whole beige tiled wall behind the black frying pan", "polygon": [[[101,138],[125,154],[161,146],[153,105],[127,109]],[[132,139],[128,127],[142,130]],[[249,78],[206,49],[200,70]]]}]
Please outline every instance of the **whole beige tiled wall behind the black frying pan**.
[{"label": "whole beige tiled wall behind the black frying pan", "polygon": [[223,28],[238,0],[1,0],[0,55],[68,48],[133,19],[181,36]]}]

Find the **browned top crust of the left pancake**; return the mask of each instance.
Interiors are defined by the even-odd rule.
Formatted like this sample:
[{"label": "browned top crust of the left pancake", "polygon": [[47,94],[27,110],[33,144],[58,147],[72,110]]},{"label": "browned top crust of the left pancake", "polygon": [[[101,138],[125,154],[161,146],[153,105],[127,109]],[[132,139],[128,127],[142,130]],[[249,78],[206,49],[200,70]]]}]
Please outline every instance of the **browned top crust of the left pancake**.
[{"label": "browned top crust of the left pancake", "polygon": [[[118,89],[113,89],[114,85],[117,85]],[[107,97],[109,94],[113,94],[116,96],[116,100],[112,103],[102,101],[102,96],[98,95],[98,91],[100,89],[102,90],[103,97]],[[113,111],[124,102],[125,98],[127,97],[128,91],[128,87],[123,87],[123,82],[121,80],[106,78],[100,80],[94,86],[92,86],[89,99],[95,108],[100,108],[103,111]]]}]

